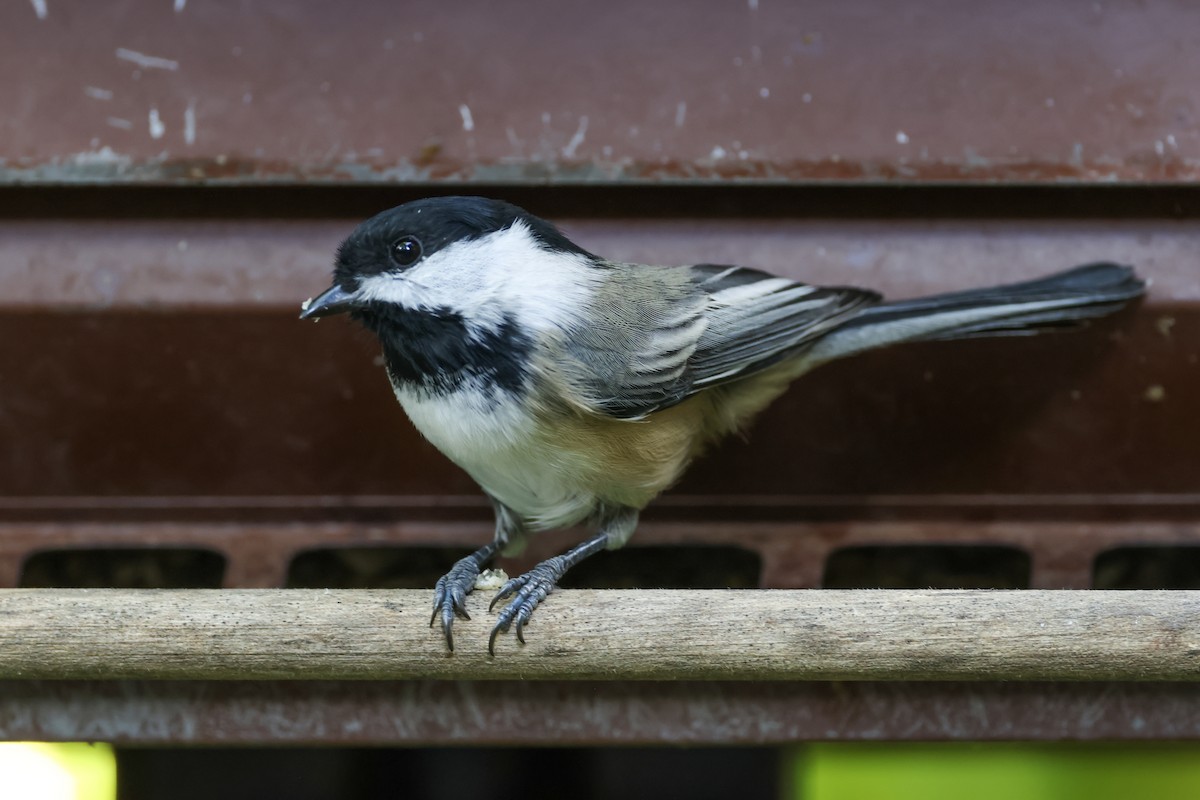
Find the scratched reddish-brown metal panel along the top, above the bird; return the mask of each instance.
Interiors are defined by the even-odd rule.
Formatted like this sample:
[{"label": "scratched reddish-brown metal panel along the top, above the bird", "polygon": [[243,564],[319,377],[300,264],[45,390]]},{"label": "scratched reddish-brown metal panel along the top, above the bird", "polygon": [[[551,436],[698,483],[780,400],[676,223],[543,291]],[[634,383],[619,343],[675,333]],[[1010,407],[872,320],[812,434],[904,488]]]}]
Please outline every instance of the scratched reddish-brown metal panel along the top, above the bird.
[{"label": "scratched reddish-brown metal panel along the top, above the bird", "polygon": [[1200,175],[1171,0],[32,0],[0,30],[6,184]]}]

